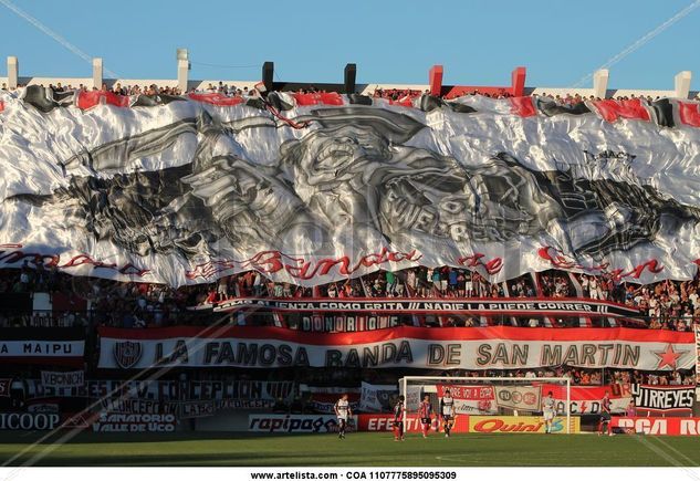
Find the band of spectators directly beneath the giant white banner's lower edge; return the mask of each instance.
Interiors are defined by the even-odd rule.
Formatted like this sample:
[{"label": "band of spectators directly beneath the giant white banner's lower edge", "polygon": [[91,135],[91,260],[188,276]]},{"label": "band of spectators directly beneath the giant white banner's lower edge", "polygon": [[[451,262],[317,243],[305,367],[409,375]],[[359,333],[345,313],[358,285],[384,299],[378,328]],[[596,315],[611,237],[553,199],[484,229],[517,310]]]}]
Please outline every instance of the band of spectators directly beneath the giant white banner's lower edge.
[{"label": "band of spectators directly beneath the giant white banner's lower edge", "polygon": [[[649,328],[690,331],[694,324],[700,324],[699,290],[700,276],[692,281],[667,280],[640,285],[609,276],[551,270],[491,283],[477,272],[450,266],[376,271],[314,287],[274,282],[257,271],[248,271],[210,284],[173,289],[165,284],[72,276],[60,272],[55,265],[25,261],[21,269],[0,270],[0,295],[51,293],[53,311],[50,315],[53,317],[40,312],[12,312],[12,309],[0,306],[0,326],[91,323],[155,327],[198,323],[206,322],[201,316],[209,307],[238,297],[579,297],[636,307],[640,312],[639,322]],[[447,316],[440,325],[469,327],[482,324],[479,317]],[[533,318],[519,325],[537,327],[542,322]],[[565,325],[563,321],[562,325]]]}]

